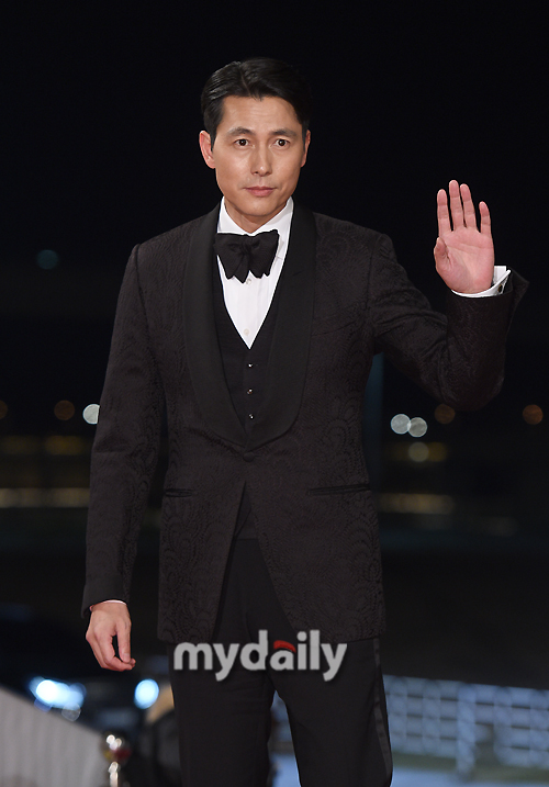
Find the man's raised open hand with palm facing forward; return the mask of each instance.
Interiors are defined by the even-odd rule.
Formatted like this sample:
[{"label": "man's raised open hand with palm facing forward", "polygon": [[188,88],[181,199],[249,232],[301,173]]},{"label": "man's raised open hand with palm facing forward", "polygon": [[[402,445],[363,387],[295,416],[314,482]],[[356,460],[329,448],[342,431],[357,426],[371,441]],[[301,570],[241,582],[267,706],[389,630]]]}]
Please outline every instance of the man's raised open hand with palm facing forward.
[{"label": "man's raised open hand with palm facing forward", "polygon": [[492,285],[494,276],[494,244],[490,228],[490,211],[479,203],[480,231],[471,191],[464,183],[451,180],[450,213],[444,189],[437,194],[438,238],[435,262],[446,284],[456,292],[477,293]]}]

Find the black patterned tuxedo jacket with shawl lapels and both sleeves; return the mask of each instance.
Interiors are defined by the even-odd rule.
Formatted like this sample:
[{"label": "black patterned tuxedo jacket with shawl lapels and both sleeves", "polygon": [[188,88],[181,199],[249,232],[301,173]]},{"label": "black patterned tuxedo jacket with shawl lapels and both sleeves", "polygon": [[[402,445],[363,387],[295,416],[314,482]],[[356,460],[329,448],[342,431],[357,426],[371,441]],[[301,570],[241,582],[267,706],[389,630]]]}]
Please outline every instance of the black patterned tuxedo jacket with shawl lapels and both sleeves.
[{"label": "black patterned tuxedo jacket with shawl lapels and both sleeves", "polygon": [[246,485],[259,544],[289,621],[325,641],[384,625],[378,525],[362,453],[376,352],[439,402],[477,408],[500,389],[525,284],[434,312],[386,236],[295,205],[279,281],[266,394],[246,435],[214,324],[219,207],[136,247],[116,312],[92,454],[83,608],[128,600],[139,525],[169,428],[158,634],[212,636]]}]

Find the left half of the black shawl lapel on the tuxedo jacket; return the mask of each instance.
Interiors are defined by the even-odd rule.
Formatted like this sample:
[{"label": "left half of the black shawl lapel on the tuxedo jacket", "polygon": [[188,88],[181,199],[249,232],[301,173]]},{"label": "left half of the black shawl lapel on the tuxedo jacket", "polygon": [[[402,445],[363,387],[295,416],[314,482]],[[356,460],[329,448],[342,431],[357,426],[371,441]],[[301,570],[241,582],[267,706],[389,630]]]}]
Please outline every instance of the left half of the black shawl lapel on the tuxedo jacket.
[{"label": "left half of the black shawl lapel on the tuxedo jacket", "polygon": [[213,240],[220,206],[201,221],[191,239],[183,285],[183,329],[189,372],[199,407],[208,425],[229,442],[244,446],[225,382],[213,312]]}]

